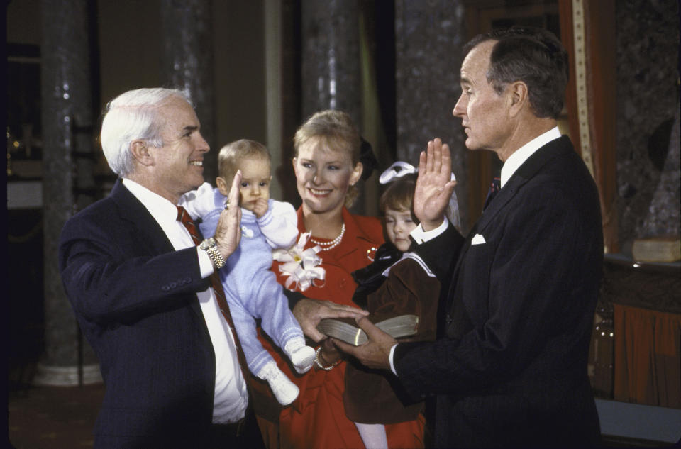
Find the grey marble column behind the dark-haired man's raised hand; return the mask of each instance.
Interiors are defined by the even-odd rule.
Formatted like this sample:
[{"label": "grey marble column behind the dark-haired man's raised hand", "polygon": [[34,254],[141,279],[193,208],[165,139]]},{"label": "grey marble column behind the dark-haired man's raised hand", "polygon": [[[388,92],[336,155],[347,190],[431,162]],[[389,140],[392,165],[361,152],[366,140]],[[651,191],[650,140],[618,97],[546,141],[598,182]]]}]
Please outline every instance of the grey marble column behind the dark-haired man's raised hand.
[{"label": "grey marble column behind the dark-haired man's raised hand", "polygon": [[461,121],[452,110],[461,93],[464,3],[395,1],[397,158],[416,165],[428,140],[448,143],[461,223],[468,221],[467,150]]}]

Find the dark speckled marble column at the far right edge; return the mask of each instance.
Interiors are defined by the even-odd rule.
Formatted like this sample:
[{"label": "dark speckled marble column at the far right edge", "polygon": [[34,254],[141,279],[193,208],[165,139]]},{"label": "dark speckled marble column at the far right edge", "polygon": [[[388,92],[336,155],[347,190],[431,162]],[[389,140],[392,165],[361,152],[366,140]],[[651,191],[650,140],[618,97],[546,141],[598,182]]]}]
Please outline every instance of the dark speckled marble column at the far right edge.
[{"label": "dark speckled marble column at the far right edge", "polygon": [[616,2],[619,240],[680,235],[679,3]]}]

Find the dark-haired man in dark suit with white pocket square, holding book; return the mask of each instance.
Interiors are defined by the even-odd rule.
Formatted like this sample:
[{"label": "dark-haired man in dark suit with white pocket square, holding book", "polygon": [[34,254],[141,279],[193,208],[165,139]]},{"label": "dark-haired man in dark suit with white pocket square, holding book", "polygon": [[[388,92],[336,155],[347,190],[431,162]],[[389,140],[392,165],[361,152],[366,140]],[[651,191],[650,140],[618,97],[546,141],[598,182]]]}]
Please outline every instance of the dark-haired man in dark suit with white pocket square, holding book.
[{"label": "dark-haired man in dark suit with white pocket square, holding book", "polygon": [[338,345],[392,370],[415,399],[436,395],[437,448],[597,445],[587,355],[603,240],[594,180],[556,126],[567,54],[531,28],[478,36],[466,50],[453,114],[467,148],[504,166],[464,240],[443,221],[449,148],[435,139],[421,154],[413,248],[448,292],[442,337],[398,344],[362,318],[370,342]]}]

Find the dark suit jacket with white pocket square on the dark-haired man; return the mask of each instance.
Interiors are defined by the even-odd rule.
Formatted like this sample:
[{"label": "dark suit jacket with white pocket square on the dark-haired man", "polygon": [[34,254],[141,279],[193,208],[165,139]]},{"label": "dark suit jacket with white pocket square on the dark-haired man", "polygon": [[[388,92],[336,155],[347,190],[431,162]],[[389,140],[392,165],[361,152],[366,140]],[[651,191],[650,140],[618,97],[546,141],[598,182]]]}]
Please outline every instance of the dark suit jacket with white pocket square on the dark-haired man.
[{"label": "dark suit jacket with white pocket square on the dark-haired man", "polygon": [[[485,243],[471,245],[480,234]],[[436,394],[436,447],[597,443],[587,356],[602,273],[599,196],[563,136],[519,167],[463,248],[448,232],[416,251],[449,272],[436,343],[397,346],[399,379]],[[477,238],[480,239],[480,238]],[[443,286],[443,288],[445,288]]]}]

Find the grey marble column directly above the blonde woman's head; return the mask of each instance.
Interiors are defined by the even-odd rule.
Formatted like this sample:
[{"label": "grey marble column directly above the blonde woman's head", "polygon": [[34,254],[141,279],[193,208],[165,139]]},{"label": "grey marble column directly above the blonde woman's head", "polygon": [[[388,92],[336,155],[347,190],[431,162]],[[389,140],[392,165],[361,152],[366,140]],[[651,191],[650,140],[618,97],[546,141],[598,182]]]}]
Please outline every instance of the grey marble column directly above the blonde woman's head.
[{"label": "grey marble column directly above the blonde woman's head", "polygon": [[362,124],[358,8],[358,0],[302,1],[303,120],[340,109]]}]

